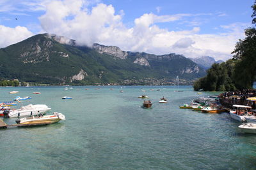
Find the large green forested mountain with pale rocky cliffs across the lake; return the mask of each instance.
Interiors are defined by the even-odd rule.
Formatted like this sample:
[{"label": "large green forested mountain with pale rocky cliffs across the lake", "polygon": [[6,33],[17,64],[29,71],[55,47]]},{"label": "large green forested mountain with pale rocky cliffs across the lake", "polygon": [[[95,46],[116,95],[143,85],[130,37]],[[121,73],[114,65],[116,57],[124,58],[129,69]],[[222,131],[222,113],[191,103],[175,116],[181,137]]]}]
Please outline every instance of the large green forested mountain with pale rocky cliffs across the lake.
[{"label": "large green forested mountain with pale rocky cliffs across the lake", "polygon": [[95,85],[129,80],[193,80],[205,71],[182,55],[123,52],[116,46],[76,46],[38,34],[0,49],[0,78],[52,85]]}]

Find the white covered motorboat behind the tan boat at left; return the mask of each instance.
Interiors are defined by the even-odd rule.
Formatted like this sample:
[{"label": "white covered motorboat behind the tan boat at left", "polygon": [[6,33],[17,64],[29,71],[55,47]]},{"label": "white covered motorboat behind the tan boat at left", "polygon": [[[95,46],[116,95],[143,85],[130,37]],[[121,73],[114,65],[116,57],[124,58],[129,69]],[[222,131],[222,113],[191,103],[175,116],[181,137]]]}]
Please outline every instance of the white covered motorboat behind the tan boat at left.
[{"label": "white covered motorboat behind the tan boat at left", "polygon": [[27,106],[22,106],[17,110],[10,110],[8,117],[31,117],[33,115],[44,114],[49,110],[51,110],[51,108],[45,104],[28,104]]}]

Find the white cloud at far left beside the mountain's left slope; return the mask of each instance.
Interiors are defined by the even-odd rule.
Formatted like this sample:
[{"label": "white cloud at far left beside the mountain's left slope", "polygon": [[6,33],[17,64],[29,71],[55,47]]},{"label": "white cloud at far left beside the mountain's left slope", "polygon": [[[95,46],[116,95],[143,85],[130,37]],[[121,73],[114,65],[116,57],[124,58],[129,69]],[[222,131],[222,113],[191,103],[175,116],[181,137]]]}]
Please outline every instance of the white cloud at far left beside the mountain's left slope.
[{"label": "white cloud at far left beside the mountain's left slope", "polygon": [[33,33],[28,31],[26,27],[17,26],[15,28],[11,28],[0,25],[0,48],[12,45],[29,38],[30,36],[33,36]]}]

